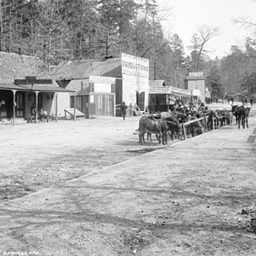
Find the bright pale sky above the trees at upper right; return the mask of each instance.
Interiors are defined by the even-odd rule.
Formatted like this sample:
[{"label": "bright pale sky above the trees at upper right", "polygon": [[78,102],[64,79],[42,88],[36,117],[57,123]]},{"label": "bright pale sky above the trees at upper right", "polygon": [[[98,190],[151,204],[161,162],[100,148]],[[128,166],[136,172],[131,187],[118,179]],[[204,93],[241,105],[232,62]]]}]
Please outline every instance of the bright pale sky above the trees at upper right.
[{"label": "bright pale sky above the trees at upper right", "polygon": [[177,33],[187,54],[193,34],[203,25],[218,27],[218,36],[206,45],[214,59],[230,54],[231,45],[240,47],[248,36],[252,36],[252,29],[235,24],[234,18],[246,16],[256,23],[255,0],[156,0],[156,3],[160,9],[171,9],[163,21],[166,37]]}]

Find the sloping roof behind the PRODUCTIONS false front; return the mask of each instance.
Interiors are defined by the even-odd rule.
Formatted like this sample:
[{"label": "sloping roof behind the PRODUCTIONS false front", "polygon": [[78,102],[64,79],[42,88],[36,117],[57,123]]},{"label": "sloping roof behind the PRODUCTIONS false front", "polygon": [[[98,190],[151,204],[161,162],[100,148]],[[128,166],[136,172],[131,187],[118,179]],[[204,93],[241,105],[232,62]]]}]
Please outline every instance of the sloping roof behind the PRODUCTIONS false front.
[{"label": "sloping roof behind the PRODUCTIONS false front", "polygon": [[53,70],[56,80],[87,79],[90,75],[121,78],[121,58],[98,61],[68,61]]}]

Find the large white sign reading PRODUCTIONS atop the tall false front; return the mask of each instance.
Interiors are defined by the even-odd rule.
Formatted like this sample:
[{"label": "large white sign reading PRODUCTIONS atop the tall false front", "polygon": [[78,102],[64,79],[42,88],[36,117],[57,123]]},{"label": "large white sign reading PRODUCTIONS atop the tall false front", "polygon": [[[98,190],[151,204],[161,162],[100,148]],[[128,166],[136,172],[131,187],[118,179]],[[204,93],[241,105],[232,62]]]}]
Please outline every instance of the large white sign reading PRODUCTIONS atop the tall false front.
[{"label": "large white sign reading PRODUCTIONS atop the tall false front", "polygon": [[149,61],[148,59],[122,53],[122,73],[148,78]]}]

